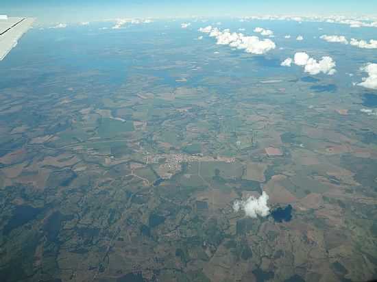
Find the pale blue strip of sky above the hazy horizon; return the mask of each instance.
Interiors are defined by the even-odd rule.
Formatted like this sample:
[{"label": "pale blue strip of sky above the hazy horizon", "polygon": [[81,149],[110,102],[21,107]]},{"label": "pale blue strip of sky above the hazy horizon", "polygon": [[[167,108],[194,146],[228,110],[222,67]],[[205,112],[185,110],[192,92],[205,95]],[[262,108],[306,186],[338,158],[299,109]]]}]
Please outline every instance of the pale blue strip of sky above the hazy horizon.
[{"label": "pale blue strip of sky above the hazy horizon", "polygon": [[376,15],[377,0],[1,0],[0,14],[34,16],[40,22],[170,16]]}]

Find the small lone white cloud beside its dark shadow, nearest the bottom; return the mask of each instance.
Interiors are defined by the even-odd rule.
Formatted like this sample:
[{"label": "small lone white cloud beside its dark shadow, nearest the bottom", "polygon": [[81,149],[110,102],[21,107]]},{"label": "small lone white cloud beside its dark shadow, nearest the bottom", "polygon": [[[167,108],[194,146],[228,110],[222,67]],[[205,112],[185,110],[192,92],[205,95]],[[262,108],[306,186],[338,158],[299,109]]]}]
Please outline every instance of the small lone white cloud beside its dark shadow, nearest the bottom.
[{"label": "small lone white cloud beside its dark shadow, nearest the bottom", "polygon": [[266,192],[263,191],[262,195],[259,198],[250,196],[245,201],[235,201],[233,203],[233,209],[236,212],[242,209],[243,211],[245,211],[246,216],[250,216],[251,218],[256,218],[257,216],[268,216],[268,199],[269,196]]}]

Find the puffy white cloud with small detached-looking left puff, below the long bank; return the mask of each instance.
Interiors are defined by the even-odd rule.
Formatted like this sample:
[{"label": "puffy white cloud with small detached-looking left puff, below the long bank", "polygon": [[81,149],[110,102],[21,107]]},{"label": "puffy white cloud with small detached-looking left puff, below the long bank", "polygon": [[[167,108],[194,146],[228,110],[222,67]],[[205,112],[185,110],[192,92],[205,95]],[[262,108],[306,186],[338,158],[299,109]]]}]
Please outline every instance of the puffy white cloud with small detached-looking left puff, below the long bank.
[{"label": "puffy white cloud with small detached-looking left puff, below the long bank", "polygon": [[303,66],[304,72],[311,75],[318,75],[319,73],[324,73],[325,75],[334,75],[337,71],[335,70],[335,62],[332,57],[324,56],[321,60],[317,61],[313,57],[310,57],[305,52],[297,52],[293,57],[293,60],[287,58],[280,64],[281,66],[291,66],[292,62],[297,66]]}]

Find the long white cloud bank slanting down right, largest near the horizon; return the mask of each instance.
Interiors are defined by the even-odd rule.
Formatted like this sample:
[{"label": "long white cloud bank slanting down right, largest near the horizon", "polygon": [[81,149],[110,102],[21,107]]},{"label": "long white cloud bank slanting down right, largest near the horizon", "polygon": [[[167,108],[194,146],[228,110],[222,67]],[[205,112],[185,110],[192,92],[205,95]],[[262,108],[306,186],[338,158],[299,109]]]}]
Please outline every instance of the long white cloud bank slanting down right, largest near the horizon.
[{"label": "long white cloud bank slanting down right, largest near the horizon", "polygon": [[244,36],[241,33],[230,32],[230,29],[221,31],[217,27],[208,26],[200,28],[199,31],[216,38],[218,45],[229,45],[236,49],[245,50],[247,53],[261,55],[276,48],[276,44],[270,39],[260,40],[257,36]]}]

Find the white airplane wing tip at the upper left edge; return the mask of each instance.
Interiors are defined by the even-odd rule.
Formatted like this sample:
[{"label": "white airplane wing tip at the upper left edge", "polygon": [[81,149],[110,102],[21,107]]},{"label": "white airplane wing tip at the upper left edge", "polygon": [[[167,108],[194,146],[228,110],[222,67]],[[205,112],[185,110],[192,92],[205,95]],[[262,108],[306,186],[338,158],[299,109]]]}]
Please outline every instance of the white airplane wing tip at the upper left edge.
[{"label": "white airplane wing tip at the upper left edge", "polygon": [[0,61],[32,26],[34,18],[0,18]]}]

